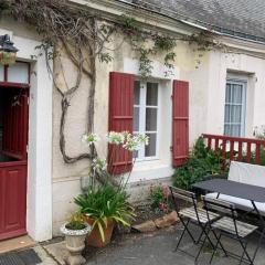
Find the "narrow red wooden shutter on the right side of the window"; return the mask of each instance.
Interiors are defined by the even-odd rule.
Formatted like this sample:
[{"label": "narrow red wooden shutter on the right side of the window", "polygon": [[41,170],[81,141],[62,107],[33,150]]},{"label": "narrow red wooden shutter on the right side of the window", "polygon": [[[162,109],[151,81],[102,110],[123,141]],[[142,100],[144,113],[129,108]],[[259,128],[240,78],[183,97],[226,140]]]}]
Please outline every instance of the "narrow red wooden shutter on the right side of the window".
[{"label": "narrow red wooden shutter on the right side of the window", "polygon": [[189,83],[173,81],[172,95],[172,155],[173,166],[184,165],[189,156]]}]

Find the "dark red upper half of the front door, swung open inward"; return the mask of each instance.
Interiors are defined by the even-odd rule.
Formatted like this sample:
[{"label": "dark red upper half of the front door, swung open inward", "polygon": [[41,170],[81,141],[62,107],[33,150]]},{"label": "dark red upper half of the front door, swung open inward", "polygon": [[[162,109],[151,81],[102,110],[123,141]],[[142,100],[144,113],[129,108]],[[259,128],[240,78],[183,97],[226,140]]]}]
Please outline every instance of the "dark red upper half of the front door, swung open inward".
[{"label": "dark red upper half of the front door, swung open inward", "polygon": [[[15,97],[18,97],[15,99]],[[2,152],[26,160],[28,93],[10,93],[4,102]]]}]

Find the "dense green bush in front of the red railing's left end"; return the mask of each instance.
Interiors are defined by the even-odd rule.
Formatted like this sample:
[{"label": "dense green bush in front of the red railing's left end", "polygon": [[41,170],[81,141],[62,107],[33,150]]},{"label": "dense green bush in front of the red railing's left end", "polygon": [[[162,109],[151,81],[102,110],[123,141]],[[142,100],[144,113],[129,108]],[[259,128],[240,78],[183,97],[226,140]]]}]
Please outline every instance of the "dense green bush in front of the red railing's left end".
[{"label": "dense green bush in front of the red railing's left end", "polygon": [[173,184],[178,188],[191,190],[192,184],[202,181],[210,174],[225,173],[227,168],[220,150],[205,147],[203,138],[200,137],[190,153],[187,163],[176,169]]}]

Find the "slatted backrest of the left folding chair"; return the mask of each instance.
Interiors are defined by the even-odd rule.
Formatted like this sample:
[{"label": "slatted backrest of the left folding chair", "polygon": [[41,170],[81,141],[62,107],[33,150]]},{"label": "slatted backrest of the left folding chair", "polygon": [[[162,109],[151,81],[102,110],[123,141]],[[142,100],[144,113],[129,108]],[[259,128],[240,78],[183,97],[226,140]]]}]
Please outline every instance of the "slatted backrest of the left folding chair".
[{"label": "slatted backrest of the left folding chair", "polygon": [[180,203],[179,200],[183,202],[188,202],[192,204],[194,208],[197,208],[197,197],[195,193],[186,191],[176,187],[169,187],[169,190],[171,192],[172,201],[174,204],[174,209],[177,212],[180,211]]}]

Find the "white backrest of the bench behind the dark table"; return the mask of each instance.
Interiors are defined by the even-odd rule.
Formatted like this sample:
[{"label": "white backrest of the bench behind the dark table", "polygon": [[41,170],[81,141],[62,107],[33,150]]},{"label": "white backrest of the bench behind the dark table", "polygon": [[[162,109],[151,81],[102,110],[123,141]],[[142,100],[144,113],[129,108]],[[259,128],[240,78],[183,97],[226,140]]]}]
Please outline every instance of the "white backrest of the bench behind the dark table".
[{"label": "white backrest of the bench behind the dark table", "polygon": [[265,188],[265,167],[231,161],[229,180]]}]

